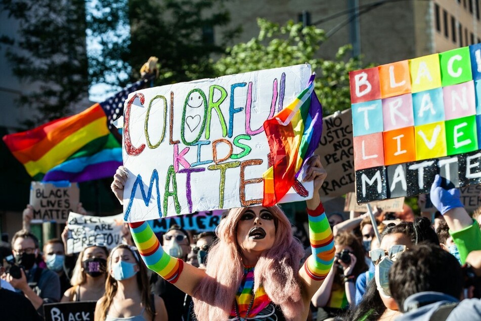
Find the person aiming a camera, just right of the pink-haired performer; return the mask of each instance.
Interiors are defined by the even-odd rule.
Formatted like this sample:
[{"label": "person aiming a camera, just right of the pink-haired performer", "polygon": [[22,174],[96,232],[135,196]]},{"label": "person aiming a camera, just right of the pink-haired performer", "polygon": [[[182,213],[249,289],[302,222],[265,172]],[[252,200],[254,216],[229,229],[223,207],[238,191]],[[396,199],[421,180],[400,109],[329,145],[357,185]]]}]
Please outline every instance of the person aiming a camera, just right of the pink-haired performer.
[{"label": "person aiming a camera, just right of the pink-haired performer", "polygon": [[318,308],[318,319],[323,314],[319,308],[326,312],[326,317],[333,317],[354,306],[356,278],[368,269],[363,246],[354,234],[340,232],[334,237],[334,245],[334,264],[312,298],[312,303]]}]

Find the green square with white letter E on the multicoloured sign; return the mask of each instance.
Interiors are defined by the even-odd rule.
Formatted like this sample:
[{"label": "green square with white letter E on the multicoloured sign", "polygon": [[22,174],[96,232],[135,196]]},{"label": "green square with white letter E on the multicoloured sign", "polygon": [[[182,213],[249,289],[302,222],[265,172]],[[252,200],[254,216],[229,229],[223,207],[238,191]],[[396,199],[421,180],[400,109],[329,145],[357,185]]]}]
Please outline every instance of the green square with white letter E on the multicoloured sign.
[{"label": "green square with white letter E on the multicoloured sign", "polygon": [[477,150],[476,116],[446,121],[446,144],[448,155]]}]

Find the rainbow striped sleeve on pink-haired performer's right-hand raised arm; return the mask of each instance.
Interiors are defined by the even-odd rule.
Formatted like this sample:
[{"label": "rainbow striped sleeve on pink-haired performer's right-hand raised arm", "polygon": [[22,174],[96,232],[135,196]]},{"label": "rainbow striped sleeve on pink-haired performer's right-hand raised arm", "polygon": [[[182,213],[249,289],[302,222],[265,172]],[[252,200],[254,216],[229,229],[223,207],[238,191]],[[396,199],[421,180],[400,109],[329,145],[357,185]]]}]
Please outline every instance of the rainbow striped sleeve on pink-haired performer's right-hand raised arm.
[{"label": "rainbow striped sleeve on pink-haired performer's right-hand raised arm", "polygon": [[308,215],[312,255],[305,261],[304,268],[312,279],[321,281],[334,262],[334,237],[322,203],[315,210],[308,209]]}]

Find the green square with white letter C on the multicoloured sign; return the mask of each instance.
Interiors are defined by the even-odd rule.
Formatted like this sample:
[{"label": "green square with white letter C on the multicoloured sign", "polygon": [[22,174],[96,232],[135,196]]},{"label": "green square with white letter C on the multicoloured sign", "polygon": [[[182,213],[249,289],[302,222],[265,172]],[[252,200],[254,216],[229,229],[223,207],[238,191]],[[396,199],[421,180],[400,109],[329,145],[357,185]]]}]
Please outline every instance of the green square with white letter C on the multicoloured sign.
[{"label": "green square with white letter C on the multicoloured sign", "polygon": [[469,47],[453,49],[439,54],[439,57],[443,87],[472,80]]}]

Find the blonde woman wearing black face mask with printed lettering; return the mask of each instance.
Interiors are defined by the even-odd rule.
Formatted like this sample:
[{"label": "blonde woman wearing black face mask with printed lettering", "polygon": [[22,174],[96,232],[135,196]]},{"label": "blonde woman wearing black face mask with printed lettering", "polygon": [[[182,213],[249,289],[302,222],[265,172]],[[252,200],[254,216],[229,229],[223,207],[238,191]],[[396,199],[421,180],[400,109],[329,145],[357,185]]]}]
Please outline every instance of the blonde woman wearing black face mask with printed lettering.
[{"label": "blonde woman wearing black face mask with printed lettering", "polygon": [[78,255],[70,284],[61,302],[97,301],[105,293],[107,248],[91,245]]}]

